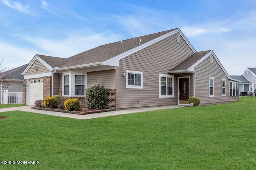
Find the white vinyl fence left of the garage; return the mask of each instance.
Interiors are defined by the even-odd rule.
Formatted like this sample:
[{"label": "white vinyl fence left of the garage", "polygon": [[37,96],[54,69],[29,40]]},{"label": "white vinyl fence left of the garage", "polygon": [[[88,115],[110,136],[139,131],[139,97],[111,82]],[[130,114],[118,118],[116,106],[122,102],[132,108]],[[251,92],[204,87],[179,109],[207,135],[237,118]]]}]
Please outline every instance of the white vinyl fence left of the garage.
[{"label": "white vinyl fence left of the garage", "polygon": [[23,92],[8,92],[4,90],[4,104],[23,104]]}]

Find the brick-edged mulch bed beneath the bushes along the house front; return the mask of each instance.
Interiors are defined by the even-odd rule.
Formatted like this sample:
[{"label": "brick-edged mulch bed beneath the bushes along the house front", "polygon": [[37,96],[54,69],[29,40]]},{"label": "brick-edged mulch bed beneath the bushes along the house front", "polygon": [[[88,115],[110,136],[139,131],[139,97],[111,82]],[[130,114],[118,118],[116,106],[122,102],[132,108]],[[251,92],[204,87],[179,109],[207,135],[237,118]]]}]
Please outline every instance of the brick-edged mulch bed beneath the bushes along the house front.
[{"label": "brick-edged mulch bed beneath the bushes along the house front", "polygon": [[101,112],[107,112],[107,111],[114,111],[115,109],[103,109],[103,110],[97,110],[97,109],[89,109],[89,111],[82,111],[82,110],[77,110],[77,111],[70,111],[70,110],[62,110],[59,108],[55,109],[48,109],[48,108],[43,108],[43,107],[31,107],[32,109],[38,109],[38,110],[46,110],[46,111],[58,111],[62,113],[71,113],[71,114],[77,114],[77,115],[87,115],[87,114],[92,114],[92,113],[101,113]]}]

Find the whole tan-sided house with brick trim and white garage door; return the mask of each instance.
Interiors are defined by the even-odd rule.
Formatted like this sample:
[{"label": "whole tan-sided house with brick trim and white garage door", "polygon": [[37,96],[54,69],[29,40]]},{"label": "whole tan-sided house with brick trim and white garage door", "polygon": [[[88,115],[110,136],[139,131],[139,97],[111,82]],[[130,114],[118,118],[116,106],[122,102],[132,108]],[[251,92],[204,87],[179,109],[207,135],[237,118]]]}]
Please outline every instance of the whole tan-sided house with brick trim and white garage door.
[{"label": "whole tan-sided house with brick trim and white garage door", "polygon": [[85,106],[90,86],[104,84],[108,108],[238,101],[230,78],[212,50],[196,52],[179,28],[100,45],[67,59],[35,55],[24,72],[24,104],[60,95]]}]

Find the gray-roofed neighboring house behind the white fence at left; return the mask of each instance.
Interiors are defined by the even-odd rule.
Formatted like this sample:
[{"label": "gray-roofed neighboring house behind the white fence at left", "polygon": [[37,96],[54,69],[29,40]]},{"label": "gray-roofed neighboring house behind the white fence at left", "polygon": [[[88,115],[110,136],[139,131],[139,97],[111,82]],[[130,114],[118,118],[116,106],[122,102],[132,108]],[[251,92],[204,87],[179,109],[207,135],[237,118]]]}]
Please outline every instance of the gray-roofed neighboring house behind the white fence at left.
[{"label": "gray-roofed neighboring house behind the white fence at left", "polygon": [[[3,91],[8,90],[8,92],[23,92],[23,79],[24,76],[22,75],[22,72],[24,69],[28,66],[28,64],[25,64],[23,66],[19,66],[17,68],[14,68],[12,70],[6,71],[6,81],[10,82],[10,86],[8,88],[1,88],[1,103],[3,101]],[[4,82],[3,82],[4,83]]]}]

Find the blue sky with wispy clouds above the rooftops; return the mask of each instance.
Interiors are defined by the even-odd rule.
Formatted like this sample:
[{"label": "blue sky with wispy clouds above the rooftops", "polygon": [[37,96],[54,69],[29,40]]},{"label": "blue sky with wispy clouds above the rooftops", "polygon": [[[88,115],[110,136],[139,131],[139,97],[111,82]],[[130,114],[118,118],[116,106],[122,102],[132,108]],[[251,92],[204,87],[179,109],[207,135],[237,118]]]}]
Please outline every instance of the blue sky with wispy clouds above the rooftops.
[{"label": "blue sky with wispy clouds above the rooftops", "polygon": [[179,27],[230,75],[256,67],[255,0],[0,0],[1,67]]}]

